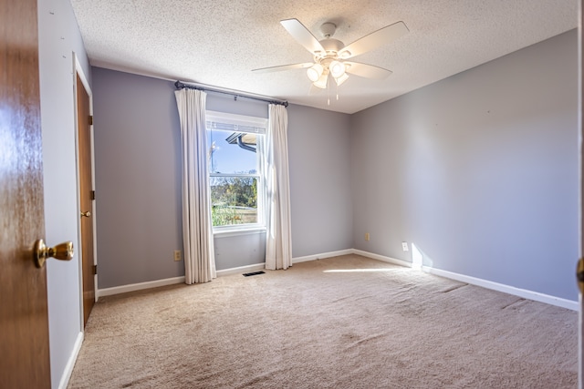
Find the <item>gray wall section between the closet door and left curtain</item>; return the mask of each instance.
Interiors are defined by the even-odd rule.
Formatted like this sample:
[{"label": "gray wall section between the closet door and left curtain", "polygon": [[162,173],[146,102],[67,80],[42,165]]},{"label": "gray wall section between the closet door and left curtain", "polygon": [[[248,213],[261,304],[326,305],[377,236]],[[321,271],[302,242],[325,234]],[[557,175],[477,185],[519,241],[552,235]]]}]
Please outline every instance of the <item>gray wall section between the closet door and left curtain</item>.
[{"label": "gray wall section between the closet door and left curtain", "polygon": [[98,286],[181,276],[181,138],[171,82],[92,68]]}]

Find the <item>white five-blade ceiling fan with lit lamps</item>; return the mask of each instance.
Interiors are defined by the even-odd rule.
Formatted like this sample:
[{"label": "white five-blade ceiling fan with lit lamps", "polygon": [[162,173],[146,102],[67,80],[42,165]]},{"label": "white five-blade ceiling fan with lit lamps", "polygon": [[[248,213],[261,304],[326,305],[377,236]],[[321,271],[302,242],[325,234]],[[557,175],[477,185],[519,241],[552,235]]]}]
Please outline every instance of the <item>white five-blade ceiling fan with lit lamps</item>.
[{"label": "white five-blade ceiling fan with lit lamps", "polygon": [[340,86],[349,78],[349,75],[373,79],[383,79],[390,76],[391,70],[362,64],[360,62],[348,61],[348,59],[353,56],[360,56],[379,46],[389,44],[409,32],[408,27],[403,22],[397,22],[372,32],[367,36],[363,36],[348,46],[345,46],[338,39],[332,38],[337,29],[334,23],[327,22],[320,26],[320,32],[324,36],[324,39],[320,41],[297,19],[282,20],[280,24],[287,29],[287,32],[300,45],[304,46],[313,55],[314,62],[277,67],[262,67],[252,71],[266,73],[306,68],[308,79],[312,81],[315,87],[322,89],[328,87],[328,80],[330,78],[334,79],[335,83]]}]

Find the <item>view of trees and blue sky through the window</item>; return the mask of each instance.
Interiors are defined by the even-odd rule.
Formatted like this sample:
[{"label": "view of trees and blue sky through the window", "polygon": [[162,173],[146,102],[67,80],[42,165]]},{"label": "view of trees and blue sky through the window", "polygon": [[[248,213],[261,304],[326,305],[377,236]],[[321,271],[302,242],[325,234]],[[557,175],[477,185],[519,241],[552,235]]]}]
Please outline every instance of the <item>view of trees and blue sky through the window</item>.
[{"label": "view of trees and blue sky through the window", "polygon": [[207,129],[213,226],[258,222],[261,135]]}]

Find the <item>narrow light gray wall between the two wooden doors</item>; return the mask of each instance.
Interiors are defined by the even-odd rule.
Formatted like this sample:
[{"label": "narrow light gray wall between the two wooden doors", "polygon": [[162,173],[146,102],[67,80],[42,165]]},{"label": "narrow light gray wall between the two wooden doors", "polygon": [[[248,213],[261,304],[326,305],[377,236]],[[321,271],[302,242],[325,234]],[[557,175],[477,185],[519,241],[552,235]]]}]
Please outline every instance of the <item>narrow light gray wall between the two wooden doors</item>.
[{"label": "narrow light gray wall between the two wooden doors", "polygon": [[[38,1],[39,73],[46,241],[78,248],[76,125],[72,53],[89,77],[89,62],[68,0]],[[82,331],[78,252],[47,261],[51,383],[57,388]]]}]

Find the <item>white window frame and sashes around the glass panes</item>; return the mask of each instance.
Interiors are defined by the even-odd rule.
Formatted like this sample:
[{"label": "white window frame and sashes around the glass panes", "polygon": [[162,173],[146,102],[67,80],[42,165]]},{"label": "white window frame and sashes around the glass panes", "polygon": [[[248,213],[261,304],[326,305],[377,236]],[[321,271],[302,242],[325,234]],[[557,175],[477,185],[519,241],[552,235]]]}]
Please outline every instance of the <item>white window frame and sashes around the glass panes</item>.
[{"label": "white window frame and sashes around the glass panes", "polygon": [[[239,133],[253,133],[257,136],[256,145],[256,158],[257,158],[257,172],[256,173],[214,173],[211,171],[211,163],[207,167],[207,185],[209,189],[209,194],[211,194],[211,179],[214,177],[236,177],[236,178],[253,178],[257,182],[257,199],[256,199],[256,210],[257,219],[255,223],[245,223],[245,224],[229,224],[224,226],[213,226],[214,235],[220,236],[231,236],[240,235],[254,232],[261,232],[266,230],[266,201],[265,201],[265,176],[266,172],[263,171],[264,163],[264,153],[266,152],[265,147],[260,147],[260,136],[261,143],[265,143],[266,129],[268,125],[267,118],[257,118],[245,115],[236,115],[226,112],[205,111],[205,130],[207,135],[212,130],[222,130],[222,131],[233,131]],[[207,138],[206,148],[210,148],[210,138]],[[210,204],[213,207],[213,204]],[[210,209],[210,211],[213,211]]]}]

